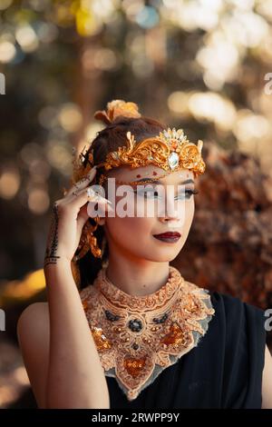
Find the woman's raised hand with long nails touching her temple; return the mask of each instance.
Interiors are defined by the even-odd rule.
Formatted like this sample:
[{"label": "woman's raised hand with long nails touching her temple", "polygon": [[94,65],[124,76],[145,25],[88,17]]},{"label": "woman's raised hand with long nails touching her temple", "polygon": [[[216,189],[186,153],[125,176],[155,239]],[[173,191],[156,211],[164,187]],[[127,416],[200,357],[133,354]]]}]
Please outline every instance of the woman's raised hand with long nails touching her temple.
[{"label": "woman's raised hand with long nails touching her temple", "polygon": [[95,194],[90,184],[96,174],[96,166],[80,181],[74,184],[63,199],[53,204],[53,218],[48,234],[44,267],[63,259],[71,262],[80,242],[83,225],[89,218],[87,204],[105,204],[111,210],[109,200]]}]

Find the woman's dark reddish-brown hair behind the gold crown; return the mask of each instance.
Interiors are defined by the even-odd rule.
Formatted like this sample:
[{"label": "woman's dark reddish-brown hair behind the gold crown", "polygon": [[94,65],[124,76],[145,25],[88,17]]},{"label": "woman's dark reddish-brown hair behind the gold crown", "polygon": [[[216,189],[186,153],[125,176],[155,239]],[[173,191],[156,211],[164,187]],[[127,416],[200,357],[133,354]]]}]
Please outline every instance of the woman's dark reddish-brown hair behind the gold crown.
[{"label": "woman's dark reddish-brown hair behind the gold crown", "polygon": [[[102,131],[98,132],[87,153],[84,155],[85,159],[83,164],[84,166],[87,165],[88,154],[91,149],[93,150],[93,165],[104,162],[108,153],[116,151],[119,147],[126,145],[126,134],[128,131],[135,136],[137,142],[141,142],[145,138],[160,134],[165,128],[166,126],[150,117],[141,116],[139,118],[134,118],[120,115],[116,117],[111,124],[103,128]],[[95,183],[93,184],[99,183],[101,174],[106,174],[103,167],[97,170]],[[91,218],[89,218],[88,221],[95,224]],[[94,232],[94,236],[97,238],[97,243],[101,248],[104,237],[102,225],[98,226],[97,230]],[[78,261],[81,276],[80,289],[83,289],[94,281],[97,273],[102,268],[102,263],[108,258],[108,251],[108,244],[106,244],[102,258],[95,258],[92,252],[89,251]]]}]

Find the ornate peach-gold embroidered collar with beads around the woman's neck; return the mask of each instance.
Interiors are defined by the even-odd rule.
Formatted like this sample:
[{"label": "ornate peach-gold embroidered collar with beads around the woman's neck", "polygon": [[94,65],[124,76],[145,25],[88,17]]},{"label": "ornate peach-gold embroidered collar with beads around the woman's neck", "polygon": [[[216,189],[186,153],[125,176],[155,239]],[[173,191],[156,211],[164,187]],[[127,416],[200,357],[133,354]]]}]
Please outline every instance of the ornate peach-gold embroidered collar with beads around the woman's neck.
[{"label": "ornate peach-gold embroidered collar with beads around the woman's neck", "polygon": [[185,281],[173,266],[155,293],[124,293],[103,267],[80,295],[105,375],[129,401],[198,345],[215,313],[209,291]]}]

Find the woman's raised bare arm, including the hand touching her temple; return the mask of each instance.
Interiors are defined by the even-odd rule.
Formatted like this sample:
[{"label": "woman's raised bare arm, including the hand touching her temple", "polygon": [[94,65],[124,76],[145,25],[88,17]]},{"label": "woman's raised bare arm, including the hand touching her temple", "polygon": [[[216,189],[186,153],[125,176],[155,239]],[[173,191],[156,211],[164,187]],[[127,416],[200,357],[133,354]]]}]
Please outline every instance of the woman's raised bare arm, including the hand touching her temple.
[{"label": "woman's raised bare arm, including the hand touching her temple", "polygon": [[[110,408],[106,378],[71,270],[88,219],[86,190],[95,173],[92,168],[53,206],[44,258],[50,318],[46,408]],[[106,199],[91,201],[109,208]]]}]

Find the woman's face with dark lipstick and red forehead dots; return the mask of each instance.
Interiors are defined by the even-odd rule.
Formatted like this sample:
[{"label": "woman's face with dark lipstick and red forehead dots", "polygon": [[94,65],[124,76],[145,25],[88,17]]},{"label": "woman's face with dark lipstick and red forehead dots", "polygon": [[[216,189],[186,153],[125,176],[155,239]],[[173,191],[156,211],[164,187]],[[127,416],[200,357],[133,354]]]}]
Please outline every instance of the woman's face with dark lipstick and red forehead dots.
[{"label": "woman's face with dark lipstick and red forehead dots", "polygon": [[[108,177],[129,185],[126,188],[128,191],[118,194],[124,187],[115,181],[114,194],[112,191],[106,192],[106,197],[112,202],[114,209],[114,216],[107,214],[104,223],[110,253],[121,251],[124,256],[153,262],[170,262],[180,253],[194,215],[194,194],[191,194],[195,189],[194,174],[188,169],[182,169],[160,178],[160,175],[165,174],[163,169],[155,165],[136,169],[119,167],[110,171]],[[148,178],[158,179],[161,184],[141,184],[142,179]],[[140,181],[138,190],[137,184],[130,184],[135,181]],[[189,183],[182,184],[185,181]],[[161,191],[164,191],[164,197],[161,196]],[[150,211],[147,210],[148,205]],[[122,207],[125,210],[130,208],[132,215],[120,216]],[[137,214],[137,210],[138,213],[143,212],[143,216]],[[154,234],[170,232],[180,233],[180,239],[168,242],[154,237]]]}]

